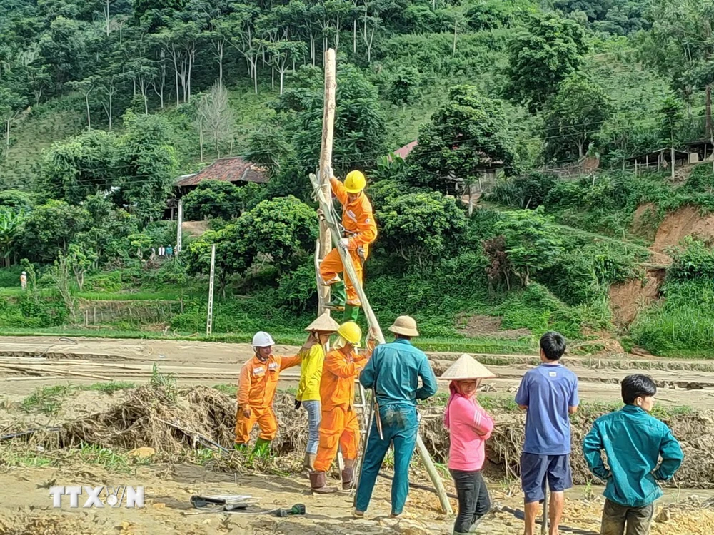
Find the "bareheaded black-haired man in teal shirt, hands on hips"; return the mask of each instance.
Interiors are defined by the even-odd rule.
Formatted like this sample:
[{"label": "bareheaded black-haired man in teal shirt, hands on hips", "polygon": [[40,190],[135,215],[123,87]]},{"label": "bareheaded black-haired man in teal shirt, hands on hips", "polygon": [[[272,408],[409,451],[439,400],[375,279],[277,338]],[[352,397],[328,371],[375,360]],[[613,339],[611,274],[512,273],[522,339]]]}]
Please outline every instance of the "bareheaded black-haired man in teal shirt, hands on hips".
[{"label": "bareheaded black-haired man in teal shirt, hands on hips", "polygon": [[[601,535],[623,535],[625,524],[627,535],[647,535],[654,501],[662,496],[657,481],[672,479],[682,464],[682,448],[669,427],[648,414],[656,393],[647,375],[625,377],[625,407],[596,419],[583,442],[590,472],[607,481]],[[603,463],[603,450],[609,469]]]}]

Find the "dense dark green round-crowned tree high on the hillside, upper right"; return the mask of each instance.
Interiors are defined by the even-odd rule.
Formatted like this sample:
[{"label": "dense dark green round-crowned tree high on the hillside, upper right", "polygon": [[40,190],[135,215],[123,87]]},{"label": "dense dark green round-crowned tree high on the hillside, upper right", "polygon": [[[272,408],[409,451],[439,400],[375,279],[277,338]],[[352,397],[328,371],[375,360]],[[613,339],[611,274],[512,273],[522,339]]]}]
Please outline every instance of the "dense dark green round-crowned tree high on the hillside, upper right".
[{"label": "dense dark green round-crowned tree high on the hillside, upper right", "polygon": [[588,51],[580,25],[555,14],[533,15],[508,43],[506,96],[540,109]]}]

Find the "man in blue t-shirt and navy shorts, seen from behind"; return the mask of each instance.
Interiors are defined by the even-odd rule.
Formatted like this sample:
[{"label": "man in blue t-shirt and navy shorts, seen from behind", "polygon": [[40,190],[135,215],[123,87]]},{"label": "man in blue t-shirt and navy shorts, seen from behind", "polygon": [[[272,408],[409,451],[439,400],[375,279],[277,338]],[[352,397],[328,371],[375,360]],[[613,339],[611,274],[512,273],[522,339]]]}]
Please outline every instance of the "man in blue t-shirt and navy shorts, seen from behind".
[{"label": "man in blue t-shirt and navy shorts, seen from behind", "polygon": [[565,338],[558,332],[540,337],[540,365],[528,370],[516,393],[526,410],[526,442],[521,454],[521,486],[525,495],[526,529],[535,535],[538,504],[550,487],[550,535],[558,533],[563,516],[563,491],[573,486],[570,469],[570,414],[578,410],[578,377],[560,364]]}]

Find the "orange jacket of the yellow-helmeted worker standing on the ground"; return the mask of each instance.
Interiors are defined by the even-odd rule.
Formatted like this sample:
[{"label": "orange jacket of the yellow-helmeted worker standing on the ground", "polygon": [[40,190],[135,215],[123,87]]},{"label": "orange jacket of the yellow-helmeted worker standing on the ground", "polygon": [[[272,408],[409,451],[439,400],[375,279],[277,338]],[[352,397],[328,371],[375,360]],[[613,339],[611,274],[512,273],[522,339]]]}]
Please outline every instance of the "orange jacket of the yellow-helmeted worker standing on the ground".
[{"label": "orange jacket of the yellow-helmeted worker standing on the ground", "polygon": [[368,357],[356,351],[344,355],[340,350],[332,350],[325,356],[320,379],[320,399],[322,410],[335,407],[349,409],[355,399],[355,379],[367,364]]}]

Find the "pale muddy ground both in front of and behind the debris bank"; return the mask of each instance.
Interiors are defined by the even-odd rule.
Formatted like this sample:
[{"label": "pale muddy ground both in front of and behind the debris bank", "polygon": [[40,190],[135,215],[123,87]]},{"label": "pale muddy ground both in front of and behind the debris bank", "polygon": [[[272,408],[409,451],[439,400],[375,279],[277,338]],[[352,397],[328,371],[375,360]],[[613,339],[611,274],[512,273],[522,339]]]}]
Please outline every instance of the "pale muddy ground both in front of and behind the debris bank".
[{"label": "pale muddy ground both in front of and behind the debris bank", "polygon": [[[164,373],[174,373],[179,387],[234,383],[238,370],[251,348],[241,344],[186,342],[169,340],[91,340],[63,341],[57,338],[0,339],[0,433],[21,423],[55,424],[86,419],[126,401],[131,391],[114,394],[104,392],[74,392],[63,399],[52,416],[40,412],[21,412],[19,403],[39,387],[53,384],[89,384],[114,379],[146,384],[154,363]],[[278,347],[286,354],[295,348]],[[430,355],[435,370],[441,370],[457,355]],[[495,396],[512,397],[520,377],[533,364],[533,355],[489,355],[483,357],[498,378],[489,382],[487,390]],[[618,381],[632,368],[648,370],[660,384],[660,402],[671,407],[688,405],[711,409],[714,404],[714,363],[706,361],[659,360],[627,355],[569,357],[568,366],[580,377],[580,396],[589,401],[617,402]],[[492,363],[492,364],[491,364]],[[1,366],[5,367],[1,367]],[[45,377],[31,374],[44,374]],[[84,377],[85,374],[92,377]],[[283,387],[295,386],[297,370],[287,370]],[[36,447],[36,445],[32,446]],[[365,520],[349,516],[351,496],[312,496],[308,481],[298,474],[278,477],[231,472],[226,467],[205,466],[176,460],[167,464],[157,458],[147,465],[131,464],[129,473],[108,470],[101,464],[69,459],[59,455],[56,462],[43,468],[23,466],[29,462],[11,462],[16,449],[0,448],[0,534],[448,534],[453,519],[446,519],[438,507],[436,496],[413,490],[407,504],[407,516],[397,522],[387,519],[389,483],[380,479],[376,500]],[[5,457],[2,457],[5,455]],[[52,460],[53,452],[44,452]],[[31,456],[29,456],[31,457]],[[5,460],[4,460],[5,459]],[[292,459],[291,463],[295,463]],[[17,465],[20,466],[17,466]],[[289,471],[288,471],[289,472]],[[53,509],[50,481],[56,485],[143,484],[146,487],[144,509]],[[428,484],[418,471],[412,481]],[[333,481],[336,484],[337,481]],[[451,484],[446,480],[450,491]],[[517,486],[502,480],[489,481],[493,501],[498,506],[522,508]],[[274,509],[296,503],[306,504],[306,516],[277,519],[267,514],[228,515],[201,514],[192,510],[192,494],[249,494],[260,499],[259,507]],[[563,524],[597,533],[602,502],[598,487],[578,489],[568,494]],[[708,492],[674,489],[660,508],[655,535],[712,534],[714,514],[703,501]],[[454,503],[454,506],[456,504]],[[493,514],[482,524],[481,533],[518,534],[522,523],[511,514]]]}]

